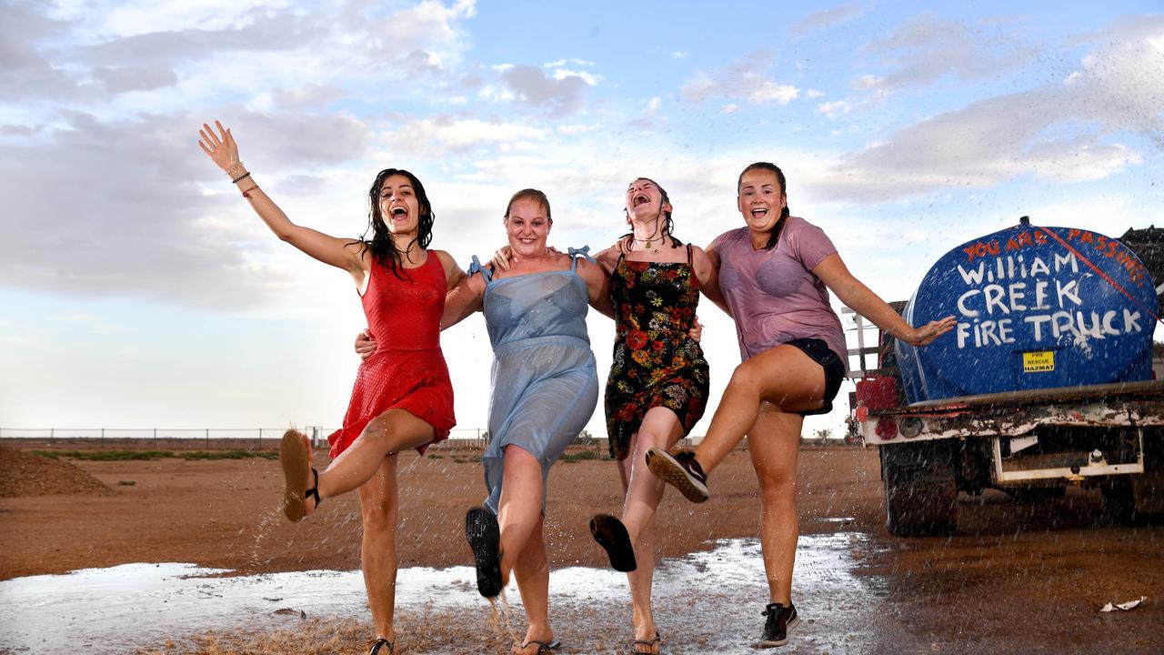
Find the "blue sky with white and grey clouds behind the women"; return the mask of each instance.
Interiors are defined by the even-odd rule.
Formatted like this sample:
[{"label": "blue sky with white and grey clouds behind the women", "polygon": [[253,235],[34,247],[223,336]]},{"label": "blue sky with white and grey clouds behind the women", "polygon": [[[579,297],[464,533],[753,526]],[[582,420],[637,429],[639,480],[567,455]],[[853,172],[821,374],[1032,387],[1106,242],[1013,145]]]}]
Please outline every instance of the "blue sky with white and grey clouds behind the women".
[{"label": "blue sky with white and grey clouds behind the women", "polygon": [[[267,231],[197,146],[214,119],[292,220],[336,237],[364,232],[378,170],[413,171],[432,246],[462,266],[504,245],[527,186],[551,198],[553,245],[610,245],[639,176],[707,245],[743,225],[753,161],[783,168],[793,213],[886,300],[1020,216],[1164,225],[1158,1],[0,9],[0,428],[339,425],[355,288]],[[695,435],[739,362],[730,319],[700,317]],[[613,326],[589,324],[604,380]],[[483,429],[480,315],[442,344],[459,428]],[[845,392],[807,436],[840,434]],[[604,435],[601,403],[588,428]]]}]

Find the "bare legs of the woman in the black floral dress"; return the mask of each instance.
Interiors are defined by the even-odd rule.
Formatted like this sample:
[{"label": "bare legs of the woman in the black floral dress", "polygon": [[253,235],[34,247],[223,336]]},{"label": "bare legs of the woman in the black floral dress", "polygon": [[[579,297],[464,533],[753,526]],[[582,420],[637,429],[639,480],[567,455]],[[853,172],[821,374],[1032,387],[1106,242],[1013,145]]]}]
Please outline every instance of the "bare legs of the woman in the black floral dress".
[{"label": "bare legs of the woman in the black floral dress", "polygon": [[[646,452],[652,446],[669,449],[683,435],[683,427],[675,413],[665,407],[647,410],[639,431],[631,436],[630,455],[619,463],[626,500],[623,505],[623,524],[634,547],[638,566],[626,573],[631,586],[634,639],[654,638],[654,615],[651,612],[651,589],[654,576],[654,517],[662,500],[663,483],[651,474]],[[641,650],[648,653],[648,650]],[[658,650],[653,650],[658,652]]]}]

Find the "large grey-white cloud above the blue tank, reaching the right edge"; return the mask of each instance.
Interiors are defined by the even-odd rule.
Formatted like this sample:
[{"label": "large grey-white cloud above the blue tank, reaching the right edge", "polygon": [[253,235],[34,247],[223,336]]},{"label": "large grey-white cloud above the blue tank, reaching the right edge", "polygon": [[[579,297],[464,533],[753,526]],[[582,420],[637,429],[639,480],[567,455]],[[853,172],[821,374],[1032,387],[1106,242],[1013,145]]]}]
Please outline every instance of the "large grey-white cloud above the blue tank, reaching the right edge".
[{"label": "large grey-white cloud above the blue tank, reaching the right edge", "polygon": [[886,202],[1021,176],[1101,179],[1143,156],[1135,136],[1164,146],[1164,20],[1147,38],[1122,34],[1060,83],[979,100],[851,153],[821,181],[837,198]]}]

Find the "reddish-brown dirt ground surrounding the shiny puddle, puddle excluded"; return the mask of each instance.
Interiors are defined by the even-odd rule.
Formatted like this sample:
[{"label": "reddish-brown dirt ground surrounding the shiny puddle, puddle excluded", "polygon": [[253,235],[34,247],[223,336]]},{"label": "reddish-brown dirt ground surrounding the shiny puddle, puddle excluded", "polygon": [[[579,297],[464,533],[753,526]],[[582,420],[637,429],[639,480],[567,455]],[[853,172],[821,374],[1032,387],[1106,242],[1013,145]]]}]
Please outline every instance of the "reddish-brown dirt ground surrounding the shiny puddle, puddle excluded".
[{"label": "reddish-brown dirt ground surrounding the shiny puddle, puddle excluded", "polygon": [[[356,499],[328,500],[304,523],[288,524],[276,509],[282,474],[274,462],[74,464],[113,493],[42,493],[52,490],[41,485],[38,495],[0,498],[0,579],[132,562],[190,562],[239,573],[360,565]],[[587,531],[587,519],[597,512],[617,513],[618,488],[610,462],[554,467],[546,521],[553,566],[605,564]],[[665,498],[662,556],[705,550],[716,538],[755,536],[759,502],[747,455],[733,453],[716,471],[711,488],[712,501],[703,506],[688,505],[674,493]],[[424,458],[403,455],[400,565],[469,564],[462,521],[464,509],[482,500],[482,490],[473,452],[438,448]],[[1018,503],[996,492],[964,498],[957,536],[901,540],[883,527],[876,450],[805,448],[797,502],[803,534],[868,535],[849,558],[876,600],[867,606],[799,606],[808,634],[814,615],[824,612],[830,613],[830,626],[840,613],[842,622],[851,621],[852,633],[797,641],[794,632],[782,652],[1164,652],[1164,527],[1105,524],[1095,493],[1071,490],[1063,499],[1038,505]],[[759,561],[755,566],[761,566]],[[1107,601],[1141,596],[1148,600],[1134,611],[1099,612]],[[754,614],[743,620],[754,622],[752,632],[758,632],[764,601],[709,610]],[[698,603],[701,590],[693,590],[689,604]],[[610,652],[608,638],[615,635],[617,642],[626,636],[623,610],[591,612],[584,620],[560,619],[563,652]],[[496,645],[487,647],[480,639],[483,621],[482,617],[402,615],[398,631],[409,636],[398,653],[492,653]],[[666,617],[659,622],[669,631],[665,652],[707,652],[697,640],[684,641],[682,626],[668,625]],[[157,645],[157,652],[359,653],[367,648],[369,634],[365,625],[341,629],[307,621],[276,633],[240,628],[177,635],[171,645]],[[741,635],[740,641],[754,636]]]}]

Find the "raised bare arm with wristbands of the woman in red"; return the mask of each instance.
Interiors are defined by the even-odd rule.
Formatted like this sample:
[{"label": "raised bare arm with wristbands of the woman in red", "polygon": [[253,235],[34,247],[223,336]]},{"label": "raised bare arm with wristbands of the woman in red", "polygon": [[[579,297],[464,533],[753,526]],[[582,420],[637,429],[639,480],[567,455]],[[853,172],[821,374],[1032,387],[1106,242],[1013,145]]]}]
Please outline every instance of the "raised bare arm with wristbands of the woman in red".
[{"label": "raised bare arm with wristbands of the woman in red", "polygon": [[319,261],[348,270],[360,284],[364,272],[361,245],[353,242],[352,239],[336,239],[291,223],[288,214],[283,213],[275,200],[271,200],[270,196],[258,188],[254,177],[239,161],[239,146],[230,131],[225,129],[219,121],[214,121],[214,126],[218,128],[218,134],[210,125],[203,124],[203,129],[198,131],[200,135],[198,145],[219,168],[230,176],[230,181],[242,192],[242,197],[250,202],[251,209],[271,228],[271,232]]}]

